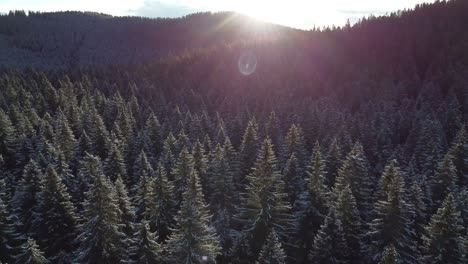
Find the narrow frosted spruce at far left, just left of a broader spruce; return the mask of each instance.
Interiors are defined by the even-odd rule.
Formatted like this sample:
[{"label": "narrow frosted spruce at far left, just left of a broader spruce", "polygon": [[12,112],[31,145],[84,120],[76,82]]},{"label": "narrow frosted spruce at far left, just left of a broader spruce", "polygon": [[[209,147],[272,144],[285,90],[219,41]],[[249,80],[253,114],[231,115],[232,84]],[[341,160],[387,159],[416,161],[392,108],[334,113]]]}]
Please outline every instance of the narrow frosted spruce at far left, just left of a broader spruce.
[{"label": "narrow frosted spruce at far left, just left of a broader spruce", "polygon": [[14,214],[23,233],[30,233],[33,207],[37,204],[36,193],[40,191],[40,182],[43,174],[35,161],[29,163],[23,169],[23,175],[19,180],[12,199]]}]

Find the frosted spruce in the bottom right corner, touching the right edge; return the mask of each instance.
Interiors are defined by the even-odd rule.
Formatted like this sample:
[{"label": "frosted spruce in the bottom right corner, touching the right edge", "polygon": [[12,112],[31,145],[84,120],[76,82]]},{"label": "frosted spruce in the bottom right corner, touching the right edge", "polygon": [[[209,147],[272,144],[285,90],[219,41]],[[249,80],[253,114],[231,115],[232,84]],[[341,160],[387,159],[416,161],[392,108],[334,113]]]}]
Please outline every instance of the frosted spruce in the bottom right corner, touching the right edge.
[{"label": "frosted spruce in the bottom right corner, touching the right edge", "polygon": [[421,263],[466,263],[466,239],[462,236],[462,229],[460,212],[456,209],[453,195],[449,194],[426,227]]}]

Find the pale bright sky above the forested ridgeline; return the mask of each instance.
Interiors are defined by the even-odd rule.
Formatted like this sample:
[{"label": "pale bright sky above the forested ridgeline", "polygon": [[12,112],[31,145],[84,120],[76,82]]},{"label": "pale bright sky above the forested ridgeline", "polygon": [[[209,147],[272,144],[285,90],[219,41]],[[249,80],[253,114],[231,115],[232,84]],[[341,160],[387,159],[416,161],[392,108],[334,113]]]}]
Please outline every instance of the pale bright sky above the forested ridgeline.
[{"label": "pale bright sky above the forested ridgeline", "polygon": [[180,17],[195,12],[236,11],[300,29],[344,25],[371,14],[413,8],[424,0],[0,0],[0,12],[94,11],[114,16]]}]

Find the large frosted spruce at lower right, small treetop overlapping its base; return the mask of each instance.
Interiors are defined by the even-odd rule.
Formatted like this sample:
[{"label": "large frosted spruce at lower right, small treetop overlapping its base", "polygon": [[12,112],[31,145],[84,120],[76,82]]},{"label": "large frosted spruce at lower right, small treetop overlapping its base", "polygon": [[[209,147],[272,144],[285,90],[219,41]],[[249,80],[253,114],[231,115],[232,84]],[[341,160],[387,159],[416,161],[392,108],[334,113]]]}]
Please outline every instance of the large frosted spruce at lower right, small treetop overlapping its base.
[{"label": "large frosted spruce at lower right, small treetop overlapping its base", "polygon": [[[390,171],[392,163],[386,166],[385,171]],[[406,190],[400,169],[396,164],[393,166],[394,173],[386,181],[388,186],[382,187],[386,190],[386,197],[380,198],[375,204],[375,217],[369,224],[366,252],[371,261],[378,261],[385,247],[393,244],[404,263],[416,263],[419,256],[416,241],[413,240],[414,208],[405,199]]]}]

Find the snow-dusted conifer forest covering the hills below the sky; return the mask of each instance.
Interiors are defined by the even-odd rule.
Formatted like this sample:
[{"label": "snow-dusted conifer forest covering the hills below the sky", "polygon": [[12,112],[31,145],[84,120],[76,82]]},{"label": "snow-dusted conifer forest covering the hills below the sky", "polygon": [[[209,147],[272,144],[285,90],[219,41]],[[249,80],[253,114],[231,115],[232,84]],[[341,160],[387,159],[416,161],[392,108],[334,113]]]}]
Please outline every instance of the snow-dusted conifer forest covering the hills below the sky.
[{"label": "snow-dusted conifer forest covering the hills below the sky", "polygon": [[467,263],[467,14],[436,2],[253,35],[235,16],[214,40],[190,34],[226,14],[55,14],[189,34],[154,29],[164,56],[116,42],[73,65],[55,64],[68,36],[14,26],[52,15],[0,17],[8,43],[46,44],[0,76],[0,261]]}]

